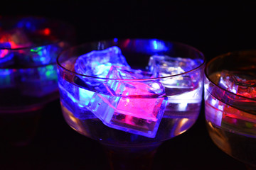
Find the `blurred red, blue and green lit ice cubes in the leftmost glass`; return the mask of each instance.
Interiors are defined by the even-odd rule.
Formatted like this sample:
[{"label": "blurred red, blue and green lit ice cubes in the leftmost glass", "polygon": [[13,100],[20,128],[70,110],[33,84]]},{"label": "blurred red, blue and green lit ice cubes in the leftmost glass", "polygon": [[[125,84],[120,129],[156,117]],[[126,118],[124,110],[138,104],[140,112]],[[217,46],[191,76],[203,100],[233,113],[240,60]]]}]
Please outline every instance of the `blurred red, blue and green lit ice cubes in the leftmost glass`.
[{"label": "blurred red, blue and green lit ice cubes in the leftmost glass", "polygon": [[1,32],[0,88],[17,86],[22,95],[33,97],[57,91],[55,60],[65,46],[60,43],[33,47],[23,29]]}]

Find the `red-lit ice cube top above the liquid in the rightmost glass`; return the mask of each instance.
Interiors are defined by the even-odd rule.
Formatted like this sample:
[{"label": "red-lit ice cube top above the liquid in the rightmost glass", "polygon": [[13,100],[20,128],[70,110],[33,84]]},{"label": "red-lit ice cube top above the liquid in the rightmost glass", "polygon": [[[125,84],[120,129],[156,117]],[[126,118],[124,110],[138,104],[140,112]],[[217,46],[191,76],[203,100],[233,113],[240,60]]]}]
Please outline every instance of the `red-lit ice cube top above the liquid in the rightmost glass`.
[{"label": "red-lit ice cube top above the liquid in the rightmost glass", "polygon": [[218,85],[234,94],[256,98],[256,74],[250,72],[220,72]]}]

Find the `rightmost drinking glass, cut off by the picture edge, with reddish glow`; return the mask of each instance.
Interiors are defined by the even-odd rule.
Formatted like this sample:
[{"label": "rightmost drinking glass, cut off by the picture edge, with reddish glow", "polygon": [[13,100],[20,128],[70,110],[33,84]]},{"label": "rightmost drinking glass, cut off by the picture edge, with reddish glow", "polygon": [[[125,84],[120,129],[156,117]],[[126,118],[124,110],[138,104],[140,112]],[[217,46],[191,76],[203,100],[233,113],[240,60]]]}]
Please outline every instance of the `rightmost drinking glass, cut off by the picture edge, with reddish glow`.
[{"label": "rightmost drinking glass, cut off by the picture edge, with reddish glow", "polygon": [[256,50],[229,52],[205,69],[208,132],[223,152],[256,167]]}]

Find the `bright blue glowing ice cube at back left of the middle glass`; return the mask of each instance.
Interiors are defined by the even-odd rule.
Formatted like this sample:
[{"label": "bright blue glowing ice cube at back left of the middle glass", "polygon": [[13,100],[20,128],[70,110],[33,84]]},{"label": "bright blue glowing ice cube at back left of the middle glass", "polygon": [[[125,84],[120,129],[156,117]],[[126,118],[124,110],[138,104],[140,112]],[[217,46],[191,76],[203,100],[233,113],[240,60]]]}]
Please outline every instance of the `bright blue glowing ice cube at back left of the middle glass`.
[{"label": "bright blue glowing ice cube at back left of the middle glass", "polygon": [[[91,77],[105,78],[112,64],[129,67],[119,47],[114,46],[106,50],[92,51],[78,57],[75,63],[75,72]],[[100,80],[88,81],[88,79],[84,79],[87,84],[92,86],[101,83]]]}]

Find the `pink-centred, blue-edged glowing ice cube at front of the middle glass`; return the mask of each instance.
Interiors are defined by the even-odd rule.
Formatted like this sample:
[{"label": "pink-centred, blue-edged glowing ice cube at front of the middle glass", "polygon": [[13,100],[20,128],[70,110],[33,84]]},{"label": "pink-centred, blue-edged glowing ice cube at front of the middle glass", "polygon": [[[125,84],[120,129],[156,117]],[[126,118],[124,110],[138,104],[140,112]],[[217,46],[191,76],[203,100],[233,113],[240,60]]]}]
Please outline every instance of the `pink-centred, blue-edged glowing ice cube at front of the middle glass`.
[{"label": "pink-centred, blue-edged glowing ice cube at front of the middle glass", "polygon": [[122,81],[141,79],[139,73],[142,71],[112,66],[107,74],[111,79],[105,84],[112,95],[95,93],[88,109],[110,128],[155,137],[167,98],[159,81]]}]

